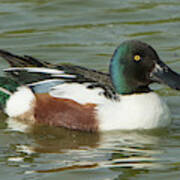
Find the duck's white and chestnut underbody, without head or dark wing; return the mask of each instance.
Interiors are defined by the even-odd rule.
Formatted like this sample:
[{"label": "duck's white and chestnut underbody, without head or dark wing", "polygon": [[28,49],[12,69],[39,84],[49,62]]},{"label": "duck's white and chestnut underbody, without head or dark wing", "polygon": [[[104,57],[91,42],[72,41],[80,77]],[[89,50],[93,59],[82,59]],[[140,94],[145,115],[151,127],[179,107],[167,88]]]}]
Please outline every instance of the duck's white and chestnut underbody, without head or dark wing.
[{"label": "duck's white and chestnut underbody, without head or dark wing", "polygon": [[[102,90],[72,85],[34,94],[21,87],[7,101],[5,112],[28,124],[41,123],[83,131],[152,129],[170,124],[170,113],[154,92],[104,97]],[[69,94],[69,89],[74,91]],[[67,93],[67,94],[66,94]]]}]

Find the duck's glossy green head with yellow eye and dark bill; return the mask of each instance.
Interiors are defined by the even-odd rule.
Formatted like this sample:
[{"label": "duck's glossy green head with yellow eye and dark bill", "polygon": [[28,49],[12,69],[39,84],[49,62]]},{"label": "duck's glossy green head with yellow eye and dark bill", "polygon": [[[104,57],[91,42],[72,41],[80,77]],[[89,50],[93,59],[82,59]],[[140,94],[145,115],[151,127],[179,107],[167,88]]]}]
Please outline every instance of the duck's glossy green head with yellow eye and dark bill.
[{"label": "duck's glossy green head with yellow eye and dark bill", "polygon": [[149,84],[153,82],[180,90],[180,75],[164,64],[150,45],[141,41],[125,41],[115,50],[110,74],[119,94],[149,92]]}]

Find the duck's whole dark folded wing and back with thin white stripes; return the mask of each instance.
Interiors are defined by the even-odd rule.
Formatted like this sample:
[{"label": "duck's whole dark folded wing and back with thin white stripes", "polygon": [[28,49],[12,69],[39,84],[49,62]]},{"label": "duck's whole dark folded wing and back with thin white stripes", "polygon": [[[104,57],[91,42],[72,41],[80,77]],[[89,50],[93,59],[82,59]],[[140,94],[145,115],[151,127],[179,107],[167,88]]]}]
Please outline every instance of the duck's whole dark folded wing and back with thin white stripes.
[{"label": "duck's whole dark folded wing and back with thin white stripes", "polygon": [[[6,69],[5,71],[22,84],[35,83],[44,80],[48,80],[46,86],[52,82],[52,80],[53,83],[51,84],[57,84],[57,82],[60,83],[59,80],[61,80],[61,83],[82,84],[88,82],[89,89],[96,87],[104,89],[106,97],[111,98],[116,94],[111,78],[107,73],[75,65],[51,64],[31,56],[17,56],[4,50],[0,50],[0,56],[7,60],[12,67],[18,67]],[[43,87],[42,83],[41,87]]]}]

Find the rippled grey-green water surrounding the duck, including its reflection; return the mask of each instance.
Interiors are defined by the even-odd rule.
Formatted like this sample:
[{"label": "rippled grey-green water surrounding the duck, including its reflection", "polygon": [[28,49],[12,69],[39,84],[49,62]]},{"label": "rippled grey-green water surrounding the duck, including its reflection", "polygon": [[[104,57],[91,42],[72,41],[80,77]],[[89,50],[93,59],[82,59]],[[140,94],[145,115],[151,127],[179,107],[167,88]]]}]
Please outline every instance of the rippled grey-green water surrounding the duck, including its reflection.
[{"label": "rippled grey-green water surrounding the duck, including its reflection", "polygon": [[[115,47],[139,39],[180,72],[179,9],[178,0],[1,0],[0,48],[107,71]],[[91,134],[37,126],[23,133],[1,114],[0,179],[179,180],[180,93],[153,88],[172,112],[165,130]]]}]

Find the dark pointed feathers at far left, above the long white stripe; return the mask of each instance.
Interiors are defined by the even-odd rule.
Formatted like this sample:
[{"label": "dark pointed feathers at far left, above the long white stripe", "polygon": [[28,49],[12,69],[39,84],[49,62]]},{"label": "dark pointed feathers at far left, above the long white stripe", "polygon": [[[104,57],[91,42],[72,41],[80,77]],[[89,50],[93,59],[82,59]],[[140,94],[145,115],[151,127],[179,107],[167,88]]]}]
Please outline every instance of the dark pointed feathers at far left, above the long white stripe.
[{"label": "dark pointed feathers at far left, above the long white stripe", "polygon": [[41,62],[31,56],[17,56],[10,52],[0,50],[0,56],[4,58],[12,67],[50,67],[51,64]]}]

